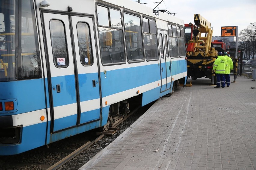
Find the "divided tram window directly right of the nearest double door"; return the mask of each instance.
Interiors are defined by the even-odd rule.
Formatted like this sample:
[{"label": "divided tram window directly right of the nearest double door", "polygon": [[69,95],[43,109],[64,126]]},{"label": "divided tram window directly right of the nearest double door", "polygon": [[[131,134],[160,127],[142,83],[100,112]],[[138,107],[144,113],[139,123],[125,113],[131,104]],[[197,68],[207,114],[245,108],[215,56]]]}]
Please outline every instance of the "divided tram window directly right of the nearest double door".
[{"label": "divided tram window directly right of the nearest double door", "polygon": [[[108,27],[99,26],[98,28],[102,64],[125,63],[121,12],[107,7],[103,8],[109,11],[109,15],[108,13],[105,15],[110,16],[107,22],[111,23],[111,26],[104,25]],[[98,9],[102,9],[101,6],[97,5]],[[99,12],[97,13],[99,19]]]}]

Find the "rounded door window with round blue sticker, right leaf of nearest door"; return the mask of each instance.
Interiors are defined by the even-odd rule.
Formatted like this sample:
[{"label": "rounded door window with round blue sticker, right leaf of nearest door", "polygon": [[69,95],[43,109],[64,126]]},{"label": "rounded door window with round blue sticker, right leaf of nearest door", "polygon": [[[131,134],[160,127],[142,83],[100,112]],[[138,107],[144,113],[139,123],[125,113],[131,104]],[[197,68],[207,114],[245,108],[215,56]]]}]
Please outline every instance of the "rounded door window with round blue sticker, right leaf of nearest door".
[{"label": "rounded door window with round blue sticker, right leaf of nearest door", "polygon": [[90,30],[87,23],[77,23],[77,37],[81,64],[83,66],[90,66],[93,64],[93,55]]}]

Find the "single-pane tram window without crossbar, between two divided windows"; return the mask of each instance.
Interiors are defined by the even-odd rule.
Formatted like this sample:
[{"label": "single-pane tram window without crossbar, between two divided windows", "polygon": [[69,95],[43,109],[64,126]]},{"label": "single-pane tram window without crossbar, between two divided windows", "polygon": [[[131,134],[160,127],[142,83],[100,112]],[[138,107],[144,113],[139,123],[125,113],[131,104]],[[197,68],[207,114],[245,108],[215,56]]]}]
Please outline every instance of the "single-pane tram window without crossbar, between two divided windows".
[{"label": "single-pane tram window without crossbar, between two divided windows", "polygon": [[128,61],[143,60],[144,55],[140,17],[124,13],[123,18],[125,23],[124,29]]}]

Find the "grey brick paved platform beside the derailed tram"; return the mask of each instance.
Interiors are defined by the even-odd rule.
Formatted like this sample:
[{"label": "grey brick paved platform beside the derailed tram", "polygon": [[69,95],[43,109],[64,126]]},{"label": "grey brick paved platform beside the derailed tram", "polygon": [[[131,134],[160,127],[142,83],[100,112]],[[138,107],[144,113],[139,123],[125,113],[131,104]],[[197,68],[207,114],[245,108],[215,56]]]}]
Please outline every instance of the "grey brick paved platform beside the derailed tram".
[{"label": "grey brick paved platform beside the derailed tram", "polygon": [[192,87],[157,100],[80,169],[255,170],[256,81],[251,80],[238,76],[224,89],[209,86],[209,79],[192,80]]}]

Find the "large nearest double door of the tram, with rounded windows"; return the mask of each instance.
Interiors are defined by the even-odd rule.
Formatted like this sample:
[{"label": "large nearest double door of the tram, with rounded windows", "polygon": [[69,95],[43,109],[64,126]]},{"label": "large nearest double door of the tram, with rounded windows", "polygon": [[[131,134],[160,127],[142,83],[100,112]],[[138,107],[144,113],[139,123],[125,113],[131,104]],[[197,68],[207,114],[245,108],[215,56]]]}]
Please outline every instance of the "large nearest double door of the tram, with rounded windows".
[{"label": "large nearest double door of the tram, with rounded windows", "polygon": [[43,16],[51,132],[99,119],[93,18],[53,13]]}]

